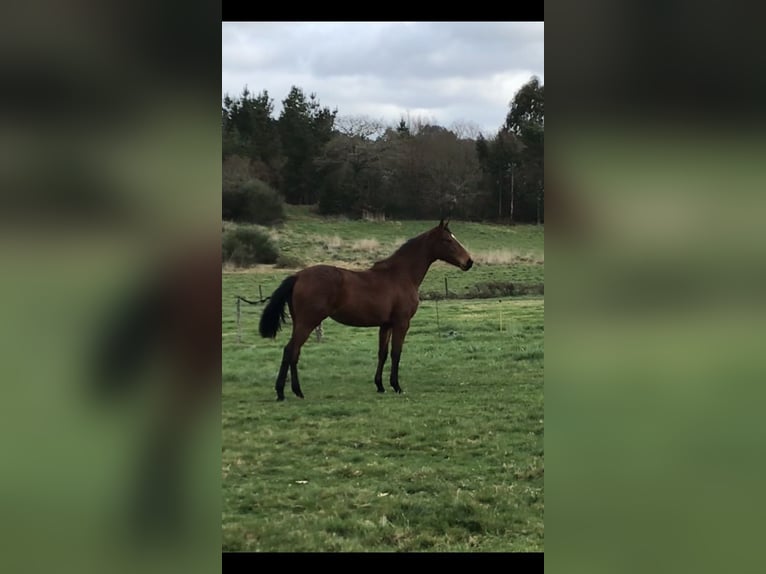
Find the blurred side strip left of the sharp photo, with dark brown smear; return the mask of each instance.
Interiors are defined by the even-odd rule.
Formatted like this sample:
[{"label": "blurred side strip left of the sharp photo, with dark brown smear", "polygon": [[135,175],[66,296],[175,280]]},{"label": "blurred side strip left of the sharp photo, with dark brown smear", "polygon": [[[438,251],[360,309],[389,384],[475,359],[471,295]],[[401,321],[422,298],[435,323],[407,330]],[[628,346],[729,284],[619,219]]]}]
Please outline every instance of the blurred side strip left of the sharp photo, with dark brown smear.
[{"label": "blurred side strip left of the sharp photo, with dark brown smear", "polygon": [[0,12],[0,570],[217,570],[220,3]]}]

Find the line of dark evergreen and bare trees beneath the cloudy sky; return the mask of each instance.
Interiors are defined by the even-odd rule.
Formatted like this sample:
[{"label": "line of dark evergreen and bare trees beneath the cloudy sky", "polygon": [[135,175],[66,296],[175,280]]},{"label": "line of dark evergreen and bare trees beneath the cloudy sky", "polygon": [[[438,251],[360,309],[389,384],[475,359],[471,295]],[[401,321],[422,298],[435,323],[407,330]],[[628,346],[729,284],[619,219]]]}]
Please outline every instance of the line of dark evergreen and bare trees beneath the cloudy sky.
[{"label": "line of dark evergreen and bare trees beneath the cloudy sky", "polygon": [[420,118],[386,126],[369,117],[338,116],[316,94],[295,86],[278,117],[266,90],[227,94],[223,217],[278,219],[281,197],[315,204],[328,215],[435,219],[449,213],[542,223],[543,92],[532,77],[490,136]]}]

